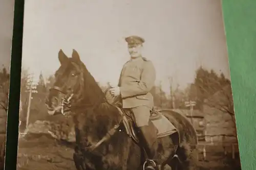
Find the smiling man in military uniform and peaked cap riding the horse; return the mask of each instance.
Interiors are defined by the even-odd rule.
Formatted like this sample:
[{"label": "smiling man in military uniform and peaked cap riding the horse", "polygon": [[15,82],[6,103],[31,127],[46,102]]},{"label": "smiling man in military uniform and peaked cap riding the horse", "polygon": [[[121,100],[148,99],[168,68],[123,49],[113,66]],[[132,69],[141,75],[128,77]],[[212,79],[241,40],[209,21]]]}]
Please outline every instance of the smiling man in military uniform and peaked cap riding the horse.
[{"label": "smiling man in military uniform and peaked cap riding the horse", "polygon": [[125,38],[131,59],[122,68],[117,87],[110,89],[111,94],[119,95],[123,108],[131,108],[134,122],[139,129],[139,138],[147,154],[146,169],[155,169],[152,162],[157,150],[157,132],[149,121],[154,106],[150,90],[155,84],[156,70],[152,61],[141,56],[144,39],[138,36]]}]

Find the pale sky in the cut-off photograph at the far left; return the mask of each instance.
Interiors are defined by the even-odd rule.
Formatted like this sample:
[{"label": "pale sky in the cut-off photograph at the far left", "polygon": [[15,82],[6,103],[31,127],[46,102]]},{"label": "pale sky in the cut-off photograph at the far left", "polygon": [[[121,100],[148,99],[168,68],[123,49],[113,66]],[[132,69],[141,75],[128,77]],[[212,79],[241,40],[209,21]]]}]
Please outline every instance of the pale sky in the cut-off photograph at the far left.
[{"label": "pale sky in the cut-off photograph at the far left", "polygon": [[14,0],[0,1],[0,68],[10,67],[13,11]]}]

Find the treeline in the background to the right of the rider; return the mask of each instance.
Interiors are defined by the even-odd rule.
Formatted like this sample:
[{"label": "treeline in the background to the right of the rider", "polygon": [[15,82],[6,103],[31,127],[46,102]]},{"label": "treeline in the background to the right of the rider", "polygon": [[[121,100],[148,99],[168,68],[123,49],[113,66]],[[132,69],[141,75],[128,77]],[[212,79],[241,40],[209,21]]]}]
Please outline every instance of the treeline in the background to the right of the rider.
[{"label": "treeline in the background to the right of the rider", "polygon": [[[186,101],[196,102],[195,109],[203,110],[204,105],[216,107],[222,111],[233,113],[232,109],[232,93],[230,81],[224,74],[218,75],[214,70],[207,70],[199,67],[195,72],[194,82],[188,84],[184,89],[180,88],[179,84],[175,84],[172,78],[170,79],[170,93],[162,90],[161,83],[154,86],[151,93],[154,96],[155,107],[167,109],[189,109],[185,106]],[[102,86],[105,90],[107,86]],[[222,96],[213,98],[218,92]]]}]

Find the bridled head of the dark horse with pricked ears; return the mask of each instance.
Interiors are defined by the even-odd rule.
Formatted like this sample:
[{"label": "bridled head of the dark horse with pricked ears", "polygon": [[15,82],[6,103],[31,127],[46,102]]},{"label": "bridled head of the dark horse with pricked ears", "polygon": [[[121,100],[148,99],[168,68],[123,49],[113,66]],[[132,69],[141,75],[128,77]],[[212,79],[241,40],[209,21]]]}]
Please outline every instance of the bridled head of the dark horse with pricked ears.
[{"label": "bridled head of the dark horse with pricked ears", "polygon": [[82,99],[84,88],[84,69],[79,54],[73,50],[72,57],[68,58],[62,50],[58,53],[60,67],[55,72],[55,82],[46,99],[48,113],[51,115],[65,114],[70,111],[71,105]]}]

